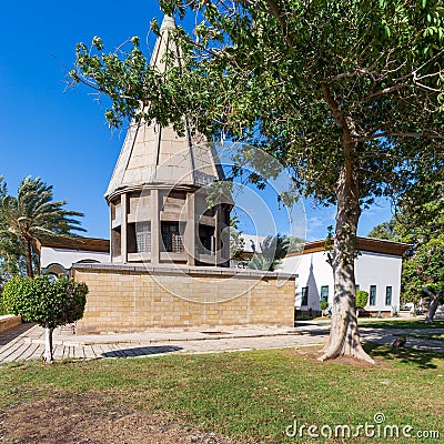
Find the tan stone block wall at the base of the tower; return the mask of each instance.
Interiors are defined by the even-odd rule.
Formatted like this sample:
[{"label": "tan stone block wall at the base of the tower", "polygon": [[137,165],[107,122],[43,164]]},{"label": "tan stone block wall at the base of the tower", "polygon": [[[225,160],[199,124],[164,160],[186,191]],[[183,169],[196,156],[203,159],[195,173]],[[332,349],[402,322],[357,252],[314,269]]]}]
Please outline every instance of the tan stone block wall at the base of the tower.
[{"label": "tan stone block wall at the base of the tower", "polygon": [[77,264],[89,294],[77,332],[294,324],[294,275],[216,268]]}]

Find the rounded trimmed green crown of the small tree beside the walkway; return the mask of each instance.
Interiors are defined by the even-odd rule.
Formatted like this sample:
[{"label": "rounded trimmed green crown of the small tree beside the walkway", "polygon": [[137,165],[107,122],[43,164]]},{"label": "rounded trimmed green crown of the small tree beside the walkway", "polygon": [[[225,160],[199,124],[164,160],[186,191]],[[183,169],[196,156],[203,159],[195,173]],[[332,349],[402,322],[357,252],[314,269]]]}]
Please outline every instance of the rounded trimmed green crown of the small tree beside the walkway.
[{"label": "rounded trimmed green crown of the small tree beside the walkway", "polygon": [[83,316],[87,294],[87,285],[72,279],[14,276],[4,285],[3,304],[28,322],[54,329]]}]

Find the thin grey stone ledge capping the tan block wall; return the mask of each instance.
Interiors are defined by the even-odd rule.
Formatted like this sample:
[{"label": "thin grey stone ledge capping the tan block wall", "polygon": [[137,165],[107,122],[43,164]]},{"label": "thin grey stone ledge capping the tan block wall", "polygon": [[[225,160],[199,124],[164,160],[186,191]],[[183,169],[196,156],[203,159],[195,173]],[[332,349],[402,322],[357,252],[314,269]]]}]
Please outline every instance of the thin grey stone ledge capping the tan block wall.
[{"label": "thin grey stone ledge capping the tan block wall", "polygon": [[73,264],[73,270],[88,270],[98,272],[133,272],[138,274],[188,274],[188,275],[213,275],[213,276],[235,276],[235,278],[262,278],[268,279],[296,279],[297,274],[246,270],[246,269],[224,269],[220,266],[174,266],[174,265],[144,265],[144,264],[115,264],[115,263],[81,263]]}]

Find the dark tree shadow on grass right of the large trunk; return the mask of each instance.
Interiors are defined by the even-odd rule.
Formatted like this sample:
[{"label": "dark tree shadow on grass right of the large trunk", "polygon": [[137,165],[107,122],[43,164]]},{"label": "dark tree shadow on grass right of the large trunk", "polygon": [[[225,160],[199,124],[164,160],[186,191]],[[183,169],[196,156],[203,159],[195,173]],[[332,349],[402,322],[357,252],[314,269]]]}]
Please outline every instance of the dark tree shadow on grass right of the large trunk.
[{"label": "dark tree shadow on grass right of the large trunk", "polygon": [[402,363],[414,364],[418,369],[436,369],[437,366],[432,363],[435,357],[443,357],[442,354],[423,352],[413,349],[392,349],[386,344],[376,344],[375,342],[367,342],[364,350],[372,355],[372,357],[382,357],[390,361],[398,361]]}]

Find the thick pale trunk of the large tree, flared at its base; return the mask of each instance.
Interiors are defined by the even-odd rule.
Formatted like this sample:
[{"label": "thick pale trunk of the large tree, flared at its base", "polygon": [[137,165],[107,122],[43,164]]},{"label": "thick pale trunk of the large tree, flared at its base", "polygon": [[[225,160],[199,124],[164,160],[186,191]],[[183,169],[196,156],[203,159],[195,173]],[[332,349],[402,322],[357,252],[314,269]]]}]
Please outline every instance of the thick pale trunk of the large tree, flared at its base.
[{"label": "thick pale trunk of the large tree, flared at its base", "polygon": [[[346,162],[345,162],[346,163]],[[320,361],[353,356],[374,364],[361,345],[355,309],[354,260],[361,215],[357,181],[344,164],[337,183],[336,230],[333,249],[334,296],[329,342]]]}]

